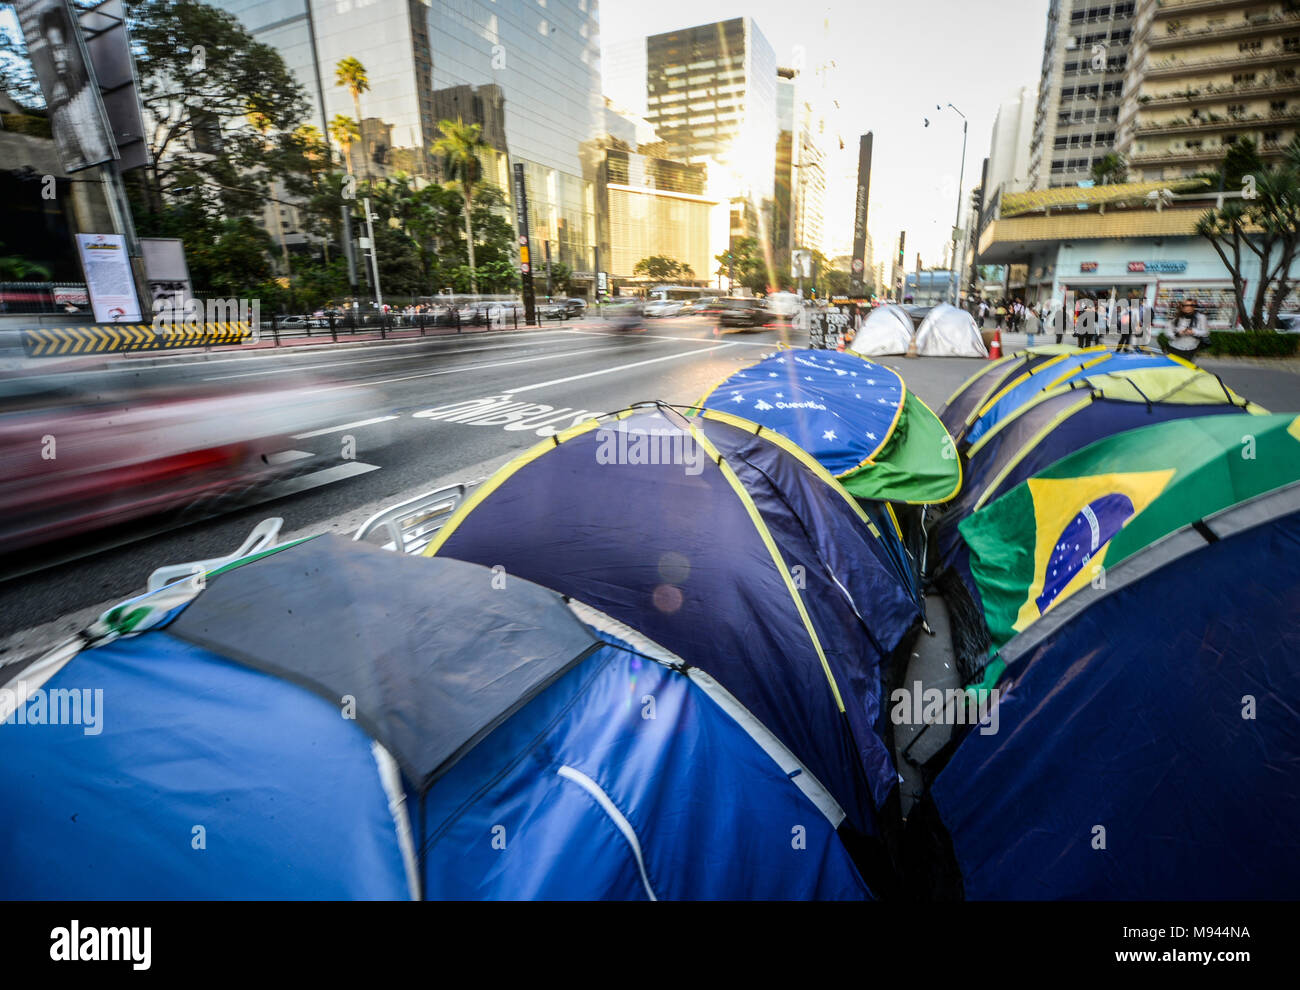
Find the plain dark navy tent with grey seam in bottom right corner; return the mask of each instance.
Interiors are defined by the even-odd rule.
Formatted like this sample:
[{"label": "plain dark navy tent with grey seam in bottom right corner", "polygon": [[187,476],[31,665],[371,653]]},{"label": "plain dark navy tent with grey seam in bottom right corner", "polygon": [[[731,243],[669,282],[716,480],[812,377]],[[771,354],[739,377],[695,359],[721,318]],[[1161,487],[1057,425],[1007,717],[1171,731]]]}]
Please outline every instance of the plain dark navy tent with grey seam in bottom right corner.
[{"label": "plain dark navy tent with grey seam in bottom right corner", "polygon": [[970,899],[1295,898],[1297,602],[1291,485],[1152,543],[1013,638],[996,731],[970,730],[909,816],[926,847],[950,842],[936,882]]}]

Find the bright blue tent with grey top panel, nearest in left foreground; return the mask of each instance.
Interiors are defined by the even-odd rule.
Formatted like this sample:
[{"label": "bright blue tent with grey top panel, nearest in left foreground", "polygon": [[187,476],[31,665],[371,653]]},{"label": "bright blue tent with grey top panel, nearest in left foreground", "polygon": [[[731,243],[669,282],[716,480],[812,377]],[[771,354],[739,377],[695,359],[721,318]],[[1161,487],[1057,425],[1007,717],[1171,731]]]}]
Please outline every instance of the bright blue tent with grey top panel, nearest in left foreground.
[{"label": "bright blue tent with grey top panel, nearest in left foreground", "polygon": [[320,537],[88,637],[0,690],[6,899],[870,895],[731,695],[515,577]]}]

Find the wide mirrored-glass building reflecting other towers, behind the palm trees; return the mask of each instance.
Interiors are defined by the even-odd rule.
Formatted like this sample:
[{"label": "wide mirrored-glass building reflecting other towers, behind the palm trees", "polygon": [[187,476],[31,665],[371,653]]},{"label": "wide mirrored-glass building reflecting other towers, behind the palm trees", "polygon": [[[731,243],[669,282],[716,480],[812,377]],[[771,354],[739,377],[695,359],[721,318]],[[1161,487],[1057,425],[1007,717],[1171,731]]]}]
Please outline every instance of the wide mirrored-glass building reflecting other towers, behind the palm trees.
[{"label": "wide mirrored-glass building reflecting other towers, behind the palm trees", "polygon": [[595,177],[584,144],[603,130],[597,0],[212,0],[276,48],[328,131],[354,117],[334,82],[365,66],[358,171],[437,178],[438,121],[482,125],[486,177],[512,196],[524,165],[533,243],[594,278]]}]

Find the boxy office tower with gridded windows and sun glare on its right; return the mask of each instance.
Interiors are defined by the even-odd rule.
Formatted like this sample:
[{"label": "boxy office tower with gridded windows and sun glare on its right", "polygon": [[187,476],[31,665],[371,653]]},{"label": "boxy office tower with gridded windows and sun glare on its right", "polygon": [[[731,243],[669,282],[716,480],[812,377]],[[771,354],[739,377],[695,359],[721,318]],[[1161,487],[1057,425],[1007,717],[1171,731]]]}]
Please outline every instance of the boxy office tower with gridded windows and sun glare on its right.
[{"label": "boxy office tower with gridded windows and sun glare on its right", "polygon": [[733,201],[732,234],[760,235],[774,199],[776,55],[753,18],[651,35],[646,117],[668,155],[708,168]]}]

